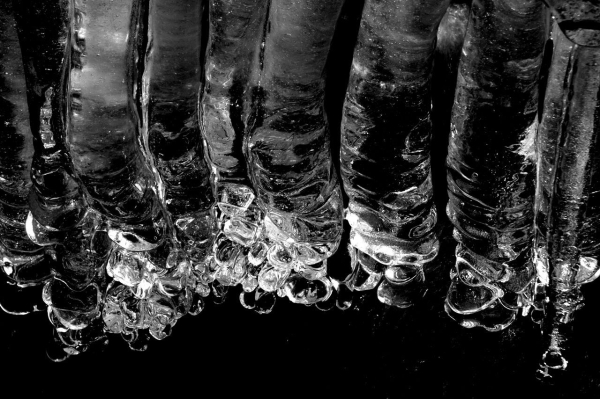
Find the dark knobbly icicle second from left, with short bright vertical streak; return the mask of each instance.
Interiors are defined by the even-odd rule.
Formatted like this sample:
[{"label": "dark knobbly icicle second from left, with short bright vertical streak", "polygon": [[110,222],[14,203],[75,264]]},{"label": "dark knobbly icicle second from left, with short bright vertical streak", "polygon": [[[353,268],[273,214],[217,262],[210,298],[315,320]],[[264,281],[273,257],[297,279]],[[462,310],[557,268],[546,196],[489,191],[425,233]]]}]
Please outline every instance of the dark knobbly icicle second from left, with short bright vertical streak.
[{"label": "dark knobbly icicle second from left, with short bright vertical streak", "polygon": [[[103,336],[99,293],[110,241],[100,228],[101,217],[87,207],[66,148],[72,4],[26,0],[13,5],[35,151],[26,231],[36,244],[56,249],[55,278],[46,283],[43,300],[57,340],[73,354]],[[86,338],[71,341],[73,334]]]}]

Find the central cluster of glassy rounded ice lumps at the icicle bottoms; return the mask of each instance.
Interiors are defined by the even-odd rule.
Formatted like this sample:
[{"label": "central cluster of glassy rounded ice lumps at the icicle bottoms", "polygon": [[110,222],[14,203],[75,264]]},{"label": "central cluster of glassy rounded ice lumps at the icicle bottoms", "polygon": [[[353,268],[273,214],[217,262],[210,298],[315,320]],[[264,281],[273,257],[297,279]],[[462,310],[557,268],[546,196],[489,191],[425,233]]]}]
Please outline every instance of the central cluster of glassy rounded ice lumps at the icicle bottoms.
[{"label": "central cluster of glassy rounded ice lumps at the icicle bottoms", "polygon": [[208,266],[216,296],[223,291],[219,286],[241,285],[240,302],[258,313],[269,313],[277,296],[304,305],[329,299],[330,253],[283,234],[247,186],[225,184],[217,201],[220,233]]}]

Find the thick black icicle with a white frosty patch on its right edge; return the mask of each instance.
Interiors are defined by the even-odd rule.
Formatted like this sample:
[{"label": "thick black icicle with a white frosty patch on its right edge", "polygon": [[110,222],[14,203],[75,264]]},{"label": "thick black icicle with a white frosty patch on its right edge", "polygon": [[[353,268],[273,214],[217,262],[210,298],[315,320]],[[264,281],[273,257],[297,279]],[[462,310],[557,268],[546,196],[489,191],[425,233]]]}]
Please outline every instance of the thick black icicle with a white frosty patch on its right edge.
[{"label": "thick black icicle with a white frosty patch on its right edge", "polygon": [[530,304],[538,77],[547,38],[537,1],[474,2],[447,157],[458,241],[446,311],[496,331]]}]

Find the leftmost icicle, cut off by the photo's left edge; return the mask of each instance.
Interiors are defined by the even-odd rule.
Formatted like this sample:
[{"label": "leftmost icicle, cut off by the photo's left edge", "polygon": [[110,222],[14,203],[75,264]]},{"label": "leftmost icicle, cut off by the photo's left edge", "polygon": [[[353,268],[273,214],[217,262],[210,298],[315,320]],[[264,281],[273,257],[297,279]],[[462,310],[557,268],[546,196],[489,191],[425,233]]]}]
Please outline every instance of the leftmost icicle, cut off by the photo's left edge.
[{"label": "leftmost icicle, cut off by the photo's left edge", "polygon": [[[0,306],[8,313],[25,314],[41,303],[40,292],[26,286],[51,278],[54,247],[42,247],[27,237],[33,139],[25,71],[17,37],[12,2],[0,4],[0,256],[8,283],[0,288]],[[39,301],[26,298],[37,296]],[[41,310],[40,309],[38,310]]]}]

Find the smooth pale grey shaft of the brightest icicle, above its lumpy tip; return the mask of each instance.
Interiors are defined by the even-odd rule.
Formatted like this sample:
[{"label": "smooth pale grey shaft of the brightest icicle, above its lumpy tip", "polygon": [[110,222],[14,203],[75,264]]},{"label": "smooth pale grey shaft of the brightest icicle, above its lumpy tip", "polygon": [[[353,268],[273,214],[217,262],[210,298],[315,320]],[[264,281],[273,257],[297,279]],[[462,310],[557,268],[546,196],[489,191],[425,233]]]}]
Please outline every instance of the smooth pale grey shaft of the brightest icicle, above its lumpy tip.
[{"label": "smooth pale grey shaft of the brightest icicle, above its lumpy tip", "polygon": [[144,22],[135,15],[140,6],[135,1],[77,3],[69,131],[75,171],[93,206],[115,224],[113,240],[133,250],[155,248],[164,229],[153,176],[140,149],[141,110],[135,103],[142,89],[143,49],[137,47],[143,41],[138,25]]}]

